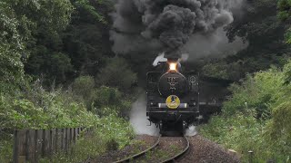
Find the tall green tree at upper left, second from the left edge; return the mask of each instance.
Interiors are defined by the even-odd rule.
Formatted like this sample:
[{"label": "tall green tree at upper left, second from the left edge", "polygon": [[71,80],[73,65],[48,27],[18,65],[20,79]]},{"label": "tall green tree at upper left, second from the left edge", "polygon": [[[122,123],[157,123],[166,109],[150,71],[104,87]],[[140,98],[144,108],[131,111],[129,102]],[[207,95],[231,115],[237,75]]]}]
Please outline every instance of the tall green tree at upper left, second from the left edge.
[{"label": "tall green tree at upper left, second from the left edge", "polygon": [[[69,57],[63,51],[63,32],[70,23],[73,5],[69,0],[11,1],[18,19],[26,31],[25,48],[29,56],[25,72],[45,75],[45,82],[65,82],[73,72]],[[25,8],[25,9],[24,9]]]}]

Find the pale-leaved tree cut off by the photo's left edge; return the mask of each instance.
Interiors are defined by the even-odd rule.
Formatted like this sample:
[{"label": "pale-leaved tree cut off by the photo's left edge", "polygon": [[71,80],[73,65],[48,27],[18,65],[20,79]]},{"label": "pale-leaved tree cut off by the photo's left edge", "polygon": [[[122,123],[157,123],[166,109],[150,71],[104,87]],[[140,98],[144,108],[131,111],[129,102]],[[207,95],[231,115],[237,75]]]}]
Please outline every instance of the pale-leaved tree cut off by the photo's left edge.
[{"label": "pale-leaved tree cut off by the photo's left edge", "polygon": [[12,91],[23,82],[21,62],[24,43],[17,27],[15,12],[6,2],[0,2],[0,92]]}]

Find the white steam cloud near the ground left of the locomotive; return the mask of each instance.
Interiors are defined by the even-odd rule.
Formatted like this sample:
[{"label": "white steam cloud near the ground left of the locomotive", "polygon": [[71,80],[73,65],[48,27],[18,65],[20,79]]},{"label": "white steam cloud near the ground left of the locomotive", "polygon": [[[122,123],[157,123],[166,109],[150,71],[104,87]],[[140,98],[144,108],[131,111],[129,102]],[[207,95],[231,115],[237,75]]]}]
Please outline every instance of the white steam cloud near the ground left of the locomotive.
[{"label": "white steam cloud near the ground left of the locomotive", "polygon": [[157,136],[159,130],[156,128],[155,124],[152,126],[147,126],[150,122],[146,117],[146,93],[143,93],[137,101],[132,106],[130,113],[130,123],[135,129],[135,134],[137,135],[151,135]]}]

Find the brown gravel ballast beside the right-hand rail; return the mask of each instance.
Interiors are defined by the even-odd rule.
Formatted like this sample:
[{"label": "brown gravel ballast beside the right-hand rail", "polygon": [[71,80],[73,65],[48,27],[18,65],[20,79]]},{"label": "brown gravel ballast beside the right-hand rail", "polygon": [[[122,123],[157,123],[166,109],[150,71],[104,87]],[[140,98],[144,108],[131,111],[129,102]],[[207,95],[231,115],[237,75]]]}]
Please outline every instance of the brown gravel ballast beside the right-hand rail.
[{"label": "brown gravel ballast beside the right-hand rail", "polygon": [[190,149],[186,155],[177,162],[195,162],[195,163],[236,163],[239,158],[217,145],[215,142],[205,139],[199,135],[188,138]]}]

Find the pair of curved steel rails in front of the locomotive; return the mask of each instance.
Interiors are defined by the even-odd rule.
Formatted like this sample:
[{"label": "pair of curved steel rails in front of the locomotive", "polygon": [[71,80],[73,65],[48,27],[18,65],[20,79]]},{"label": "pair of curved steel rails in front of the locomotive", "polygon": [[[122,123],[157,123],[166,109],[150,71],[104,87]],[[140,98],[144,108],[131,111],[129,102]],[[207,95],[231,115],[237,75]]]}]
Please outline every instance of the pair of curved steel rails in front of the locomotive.
[{"label": "pair of curved steel rails in front of the locomotive", "polygon": [[[162,162],[162,163],[175,162],[178,158],[181,158],[182,156],[184,156],[186,154],[187,150],[190,147],[190,142],[186,138],[186,136],[184,136],[183,138],[184,138],[184,141],[186,142],[186,147],[181,152],[177,153],[174,157],[167,158],[166,160],[163,160],[163,161],[160,161],[160,162]],[[140,152],[138,154],[130,156],[128,158],[124,158],[124,159],[118,160],[115,163],[130,162],[130,161],[135,162],[135,160],[137,160],[139,158],[142,158],[143,156],[146,156],[146,153],[148,153],[149,151],[151,151],[153,149],[156,149],[158,147],[159,143],[160,143],[160,139],[161,139],[161,136],[158,137],[158,139],[156,140],[156,143],[152,147],[150,147],[150,148],[148,148],[148,149],[146,149],[146,150],[144,150],[144,151],[142,151],[142,152]]]}]

